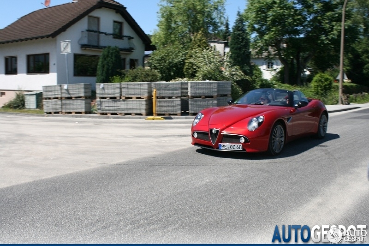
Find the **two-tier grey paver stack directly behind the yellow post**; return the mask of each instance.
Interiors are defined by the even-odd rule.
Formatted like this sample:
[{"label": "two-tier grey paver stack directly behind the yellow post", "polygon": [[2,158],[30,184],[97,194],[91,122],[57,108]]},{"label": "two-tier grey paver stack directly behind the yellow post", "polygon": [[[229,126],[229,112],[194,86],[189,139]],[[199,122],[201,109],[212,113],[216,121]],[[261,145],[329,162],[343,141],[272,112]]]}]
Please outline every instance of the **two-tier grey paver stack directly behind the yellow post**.
[{"label": "two-tier grey paver stack directly behind the yellow post", "polygon": [[182,83],[181,81],[152,82],[153,91],[156,89],[157,115],[181,115]]}]

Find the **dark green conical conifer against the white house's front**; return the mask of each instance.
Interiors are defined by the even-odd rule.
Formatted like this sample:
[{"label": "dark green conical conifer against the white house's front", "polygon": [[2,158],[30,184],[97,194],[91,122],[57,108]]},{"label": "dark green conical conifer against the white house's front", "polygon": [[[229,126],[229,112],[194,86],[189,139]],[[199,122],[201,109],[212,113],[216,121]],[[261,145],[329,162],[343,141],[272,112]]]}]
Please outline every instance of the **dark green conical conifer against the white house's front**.
[{"label": "dark green conical conifer against the white house's front", "polygon": [[122,60],[118,47],[108,46],[103,49],[97,64],[96,83],[109,83],[110,78],[118,75]]}]

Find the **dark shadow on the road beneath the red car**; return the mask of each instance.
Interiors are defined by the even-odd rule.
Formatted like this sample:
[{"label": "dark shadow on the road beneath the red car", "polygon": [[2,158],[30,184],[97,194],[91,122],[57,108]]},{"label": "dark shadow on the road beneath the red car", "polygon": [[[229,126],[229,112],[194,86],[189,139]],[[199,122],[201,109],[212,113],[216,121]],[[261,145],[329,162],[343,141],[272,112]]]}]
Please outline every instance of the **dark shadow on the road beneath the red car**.
[{"label": "dark shadow on the road beneath the red car", "polygon": [[338,134],[327,133],[324,139],[314,139],[313,137],[304,137],[301,139],[289,142],[284,146],[282,153],[279,156],[269,156],[267,153],[241,153],[231,151],[214,151],[199,148],[196,150],[197,153],[205,154],[208,156],[231,158],[231,159],[244,159],[244,160],[263,160],[263,159],[276,159],[286,158],[290,156],[296,156],[314,147],[328,147],[324,143],[328,141],[339,139]]}]

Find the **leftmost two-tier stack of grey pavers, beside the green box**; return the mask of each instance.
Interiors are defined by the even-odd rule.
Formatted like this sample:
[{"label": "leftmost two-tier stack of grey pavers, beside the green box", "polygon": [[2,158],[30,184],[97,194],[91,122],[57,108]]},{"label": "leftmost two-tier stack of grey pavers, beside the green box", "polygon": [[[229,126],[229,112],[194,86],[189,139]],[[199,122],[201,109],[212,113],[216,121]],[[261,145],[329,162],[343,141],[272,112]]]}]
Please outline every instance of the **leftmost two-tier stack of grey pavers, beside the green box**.
[{"label": "leftmost two-tier stack of grey pavers, beside the green box", "polygon": [[42,105],[45,113],[62,113],[62,86],[42,86]]}]

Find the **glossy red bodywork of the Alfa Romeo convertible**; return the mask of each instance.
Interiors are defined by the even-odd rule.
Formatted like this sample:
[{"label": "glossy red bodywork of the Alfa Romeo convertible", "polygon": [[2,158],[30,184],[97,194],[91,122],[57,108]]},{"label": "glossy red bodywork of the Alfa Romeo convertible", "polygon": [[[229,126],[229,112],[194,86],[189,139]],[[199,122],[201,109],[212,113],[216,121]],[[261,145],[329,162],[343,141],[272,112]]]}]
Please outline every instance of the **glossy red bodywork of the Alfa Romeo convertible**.
[{"label": "glossy red bodywork of the Alfa Romeo convertible", "polygon": [[[268,150],[270,132],[277,121],[282,123],[286,131],[287,143],[317,133],[323,112],[327,113],[324,104],[315,99],[309,99],[308,105],[304,107],[238,104],[208,108],[201,111],[203,118],[192,126],[192,144],[219,150],[218,144],[226,143],[223,141],[224,136],[237,135],[248,139],[247,143],[242,143],[243,151],[263,152]],[[258,116],[264,116],[261,126],[254,131],[248,130],[250,120]],[[210,129],[220,131],[214,142],[210,140]],[[193,137],[194,132],[201,133],[203,138]]]}]

